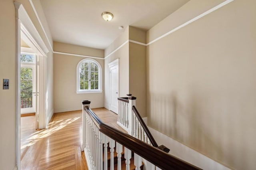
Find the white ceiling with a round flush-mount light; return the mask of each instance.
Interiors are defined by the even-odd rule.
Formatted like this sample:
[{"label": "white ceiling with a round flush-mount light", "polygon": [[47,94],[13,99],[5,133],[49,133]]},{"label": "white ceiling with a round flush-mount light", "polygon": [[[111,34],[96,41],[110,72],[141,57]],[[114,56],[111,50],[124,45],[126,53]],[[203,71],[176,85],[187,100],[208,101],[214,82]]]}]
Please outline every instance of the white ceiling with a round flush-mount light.
[{"label": "white ceiling with a round flush-mount light", "polygon": [[[41,0],[56,42],[105,49],[127,26],[148,30],[189,0]],[[110,22],[102,12],[111,12]],[[118,27],[123,26],[123,30]]]}]

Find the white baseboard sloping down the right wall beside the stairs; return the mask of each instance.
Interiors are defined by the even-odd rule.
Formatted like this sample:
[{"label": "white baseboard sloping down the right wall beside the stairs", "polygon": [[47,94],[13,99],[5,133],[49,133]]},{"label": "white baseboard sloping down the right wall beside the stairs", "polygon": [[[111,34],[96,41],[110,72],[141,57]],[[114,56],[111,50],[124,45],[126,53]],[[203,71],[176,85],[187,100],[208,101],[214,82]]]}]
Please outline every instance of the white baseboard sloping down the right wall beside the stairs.
[{"label": "white baseboard sloping down the right wall beside the stairs", "polygon": [[199,152],[196,152],[192,148],[189,148],[188,146],[170,138],[169,136],[166,136],[153,128],[148,127],[148,129],[158,145],[163,144],[170,149],[169,154],[205,170],[230,170],[226,166],[208,158],[203,154],[200,154]]}]

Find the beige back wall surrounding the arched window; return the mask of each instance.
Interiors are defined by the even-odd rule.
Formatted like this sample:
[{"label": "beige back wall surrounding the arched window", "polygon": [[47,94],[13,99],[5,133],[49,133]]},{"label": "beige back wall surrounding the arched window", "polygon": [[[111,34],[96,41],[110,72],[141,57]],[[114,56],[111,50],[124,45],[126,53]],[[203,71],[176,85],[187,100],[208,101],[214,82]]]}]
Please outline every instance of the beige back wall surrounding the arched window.
[{"label": "beige back wall surrounding the arched window", "polygon": [[[54,51],[102,57],[104,50],[54,42]],[[96,59],[102,67],[102,93],[76,93],[76,67],[85,57],[54,53],[54,112],[82,108],[81,100],[90,100],[92,108],[104,107],[104,60]]]}]

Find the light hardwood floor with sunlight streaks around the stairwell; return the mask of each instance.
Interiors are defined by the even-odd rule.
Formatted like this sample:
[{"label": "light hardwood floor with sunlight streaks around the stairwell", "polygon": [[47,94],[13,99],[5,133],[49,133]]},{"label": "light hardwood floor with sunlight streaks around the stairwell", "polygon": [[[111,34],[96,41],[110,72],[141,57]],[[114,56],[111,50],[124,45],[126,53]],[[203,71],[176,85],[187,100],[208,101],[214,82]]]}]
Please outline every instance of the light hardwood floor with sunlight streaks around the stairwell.
[{"label": "light hardwood floor with sunlight streaks around the stairwell", "polygon": [[[105,108],[92,109],[107,125],[118,128],[117,115]],[[34,121],[34,122],[33,122]],[[82,111],[55,113],[48,128],[35,130],[35,117],[21,118],[22,170],[87,170],[81,152]]]}]

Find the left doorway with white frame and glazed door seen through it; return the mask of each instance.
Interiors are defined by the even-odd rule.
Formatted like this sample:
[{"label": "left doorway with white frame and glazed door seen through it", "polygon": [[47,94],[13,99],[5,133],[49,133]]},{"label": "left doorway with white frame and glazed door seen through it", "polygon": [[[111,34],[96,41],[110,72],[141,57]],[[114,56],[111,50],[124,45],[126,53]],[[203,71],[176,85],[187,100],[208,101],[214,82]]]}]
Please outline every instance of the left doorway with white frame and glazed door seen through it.
[{"label": "left doorway with white frame and glazed door seen through it", "polygon": [[[21,113],[35,112],[36,128],[46,127],[46,57],[49,52],[22,4],[16,8],[16,162],[21,168]],[[22,51],[21,40],[30,51]],[[25,53],[22,53],[25,52]],[[32,56],[34,55],[34,59]],[[34,60],[34,61],[33,61]],[[34,76],[33,76],[34,75]],[[35,79],[35,80],[34,80]],[[34,85],[33,85],[34,84]],[[23,87],[22,87],[23,86]],[[31,94],[32,93],[32,94]],[[22,96],[23,95],[23,96]],[[35,97],[34,97],[35,95]],[[35,99],[33,99],[33,97]],[[25,98],[28,98],[25,100]],[[32,99],[31,99],[32,98]],[[23,101],[22,101],[23,100]],[[23,107],[23,108],[22,108]]]}]

